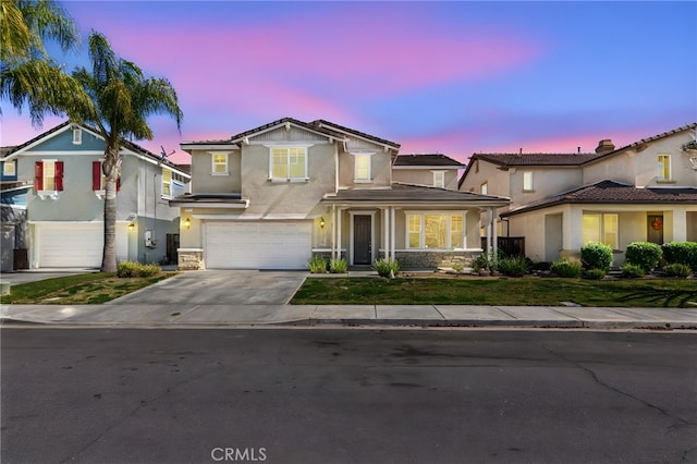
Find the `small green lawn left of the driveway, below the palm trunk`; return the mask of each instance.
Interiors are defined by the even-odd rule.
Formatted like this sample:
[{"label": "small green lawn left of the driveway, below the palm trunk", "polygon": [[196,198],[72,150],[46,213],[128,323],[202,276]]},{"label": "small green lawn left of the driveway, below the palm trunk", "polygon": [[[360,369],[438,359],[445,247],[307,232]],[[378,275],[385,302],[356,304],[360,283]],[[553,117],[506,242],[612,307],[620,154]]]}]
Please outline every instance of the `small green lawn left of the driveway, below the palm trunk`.
[{"label": "small green lawn left of the driveway, below the palm trunk", "polygon": [[115,273],[82,273],[12,285],[3,304],[99,304],[148,286],[175,272],[145,278],[118,278]]}]

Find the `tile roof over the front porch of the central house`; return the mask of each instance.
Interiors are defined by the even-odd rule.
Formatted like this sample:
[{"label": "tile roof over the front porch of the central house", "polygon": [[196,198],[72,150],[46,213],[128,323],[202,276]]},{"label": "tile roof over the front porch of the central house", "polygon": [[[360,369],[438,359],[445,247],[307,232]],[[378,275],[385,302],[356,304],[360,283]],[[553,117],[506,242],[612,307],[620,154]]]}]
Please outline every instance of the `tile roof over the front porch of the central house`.
[{"label": "tile roof over the front porch of the central house", "polygon": [[421,185],[411,185],[402,183],[392,183],[391,188],[355,188],[341,190],[335,195],[327,195],[323,199],[330,203],[343,202],[366,202],[366,203],[493,203],[496,205],[505,206],[510,203],[509,198],[480,195],[473,192],[458,192],[438,187],[427,187]]}]

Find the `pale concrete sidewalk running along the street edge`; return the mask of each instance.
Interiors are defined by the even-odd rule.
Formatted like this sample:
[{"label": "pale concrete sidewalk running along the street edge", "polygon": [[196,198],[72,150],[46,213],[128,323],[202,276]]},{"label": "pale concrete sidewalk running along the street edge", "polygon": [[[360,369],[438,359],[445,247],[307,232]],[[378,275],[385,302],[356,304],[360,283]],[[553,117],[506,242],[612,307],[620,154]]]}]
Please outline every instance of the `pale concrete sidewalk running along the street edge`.
[{"label": "pale concrete sidewalk running along the street edge", "polygon": [[697,330],[697,308],[463,305],[1,305],[0,323],[78,327],[424,326]]}]

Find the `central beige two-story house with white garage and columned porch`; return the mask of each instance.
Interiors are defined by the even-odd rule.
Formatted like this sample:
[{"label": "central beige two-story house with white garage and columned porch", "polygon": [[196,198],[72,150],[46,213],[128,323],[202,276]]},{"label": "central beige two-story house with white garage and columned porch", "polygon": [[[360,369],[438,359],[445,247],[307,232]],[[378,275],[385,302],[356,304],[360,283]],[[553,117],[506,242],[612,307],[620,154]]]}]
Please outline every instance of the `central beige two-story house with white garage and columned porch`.
[{"label": "central beige two-story house with white garage and columned porch", "polygon": [[284,118],[181,147],[194,191],[170,202],[181,208],[180,269],[305,269],[313,255],[465,265],[481,252],[480,211],[508,204],[395,183],[399,144],[322,120]]}]

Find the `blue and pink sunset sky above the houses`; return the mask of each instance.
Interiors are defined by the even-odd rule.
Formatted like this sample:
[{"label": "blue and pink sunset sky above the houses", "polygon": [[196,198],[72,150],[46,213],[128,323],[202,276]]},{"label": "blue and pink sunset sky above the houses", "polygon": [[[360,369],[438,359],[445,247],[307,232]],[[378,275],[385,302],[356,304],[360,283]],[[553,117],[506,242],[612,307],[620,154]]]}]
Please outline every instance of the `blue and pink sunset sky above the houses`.
[{"label": "blue and pink sunset sky above the houses", "polygon": [[[697,2],[66,1],[169,78],[181,134],[159,152],[283,117],[326,119],[402,154],[591,151],[697,121]],[[59,56],[71,70],[85,63]],[[49,118],[44,130],[61,119]],[[2,102],[2,145],[40,131]]]}]

